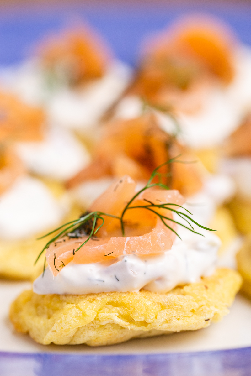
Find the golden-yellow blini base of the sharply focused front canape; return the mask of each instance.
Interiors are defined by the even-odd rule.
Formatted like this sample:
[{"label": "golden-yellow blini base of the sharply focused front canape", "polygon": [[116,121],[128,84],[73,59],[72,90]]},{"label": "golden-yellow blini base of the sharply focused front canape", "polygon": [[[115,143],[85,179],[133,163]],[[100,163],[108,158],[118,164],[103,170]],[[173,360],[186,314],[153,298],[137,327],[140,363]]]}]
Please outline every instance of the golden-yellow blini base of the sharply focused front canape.
[{"label": "golden-yellow blini base of the sharply focused front canape", "polygon": [[242,278],[219,269],[166,294],[38,295],[24,291],[11,305],[17,331],[38,343],[105,346],[131,338],[197,330],[228,314]]}]

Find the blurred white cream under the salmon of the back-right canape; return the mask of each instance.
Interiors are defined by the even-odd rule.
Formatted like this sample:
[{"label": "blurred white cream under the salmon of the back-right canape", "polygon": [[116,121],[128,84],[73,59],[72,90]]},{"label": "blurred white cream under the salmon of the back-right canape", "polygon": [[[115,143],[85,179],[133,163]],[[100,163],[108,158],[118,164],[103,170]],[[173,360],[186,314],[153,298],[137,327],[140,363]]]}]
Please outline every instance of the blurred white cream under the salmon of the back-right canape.
[{"label": "blurred white cream under the salmon of the back-right canape", "polygon": [[[128,119],[142,115],[143,102],[136,96],[128,96],[119,104],[116,117]],[[167,133],[177,133],[177,127],[168,114],[154,111],[159,126]],[[221,143],[240,123],[242,113],[228,98],[221,86],[208,90],[202,108],[193,114],[179,112],[179,139],[182,143],[201,149]]]}]

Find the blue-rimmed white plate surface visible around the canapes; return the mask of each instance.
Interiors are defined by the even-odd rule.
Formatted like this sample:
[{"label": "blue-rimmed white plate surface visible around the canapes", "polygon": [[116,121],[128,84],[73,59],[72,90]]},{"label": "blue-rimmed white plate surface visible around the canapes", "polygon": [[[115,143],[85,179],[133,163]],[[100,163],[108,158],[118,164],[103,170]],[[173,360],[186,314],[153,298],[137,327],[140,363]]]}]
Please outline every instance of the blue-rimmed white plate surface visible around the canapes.
[{"label": "blue-rimmed white plate surface visible around the canapes", "polygon": [[[69,6],[64,9],[19,9],[0,14],[0,65],[29,55],[47,33],[85,19],[108,40],[117,57],[135,65],[143,36],[157,32],[180,14],[210,12],[227,21],[242,41],[251,44],[251,6],[203,3],[198,6]],[[0,376],[250,376],[251,303],[237,296],[230,314],[207,329],[136,339],[91,348],[42,346],[14,332],[8,320],[11,301],[27,283],[0,282]]]}]

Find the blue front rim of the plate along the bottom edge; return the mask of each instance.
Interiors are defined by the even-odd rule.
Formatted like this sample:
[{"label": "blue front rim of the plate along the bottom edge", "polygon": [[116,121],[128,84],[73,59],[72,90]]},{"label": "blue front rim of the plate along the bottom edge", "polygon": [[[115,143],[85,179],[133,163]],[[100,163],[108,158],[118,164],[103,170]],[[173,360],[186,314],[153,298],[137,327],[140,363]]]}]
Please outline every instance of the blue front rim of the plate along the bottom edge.
[{"label": "blue front rim of the plate along the bottom edge", "polygon": [[50,375],[250,376],[251,347],[136,355],[0,352],[0,376]]}]

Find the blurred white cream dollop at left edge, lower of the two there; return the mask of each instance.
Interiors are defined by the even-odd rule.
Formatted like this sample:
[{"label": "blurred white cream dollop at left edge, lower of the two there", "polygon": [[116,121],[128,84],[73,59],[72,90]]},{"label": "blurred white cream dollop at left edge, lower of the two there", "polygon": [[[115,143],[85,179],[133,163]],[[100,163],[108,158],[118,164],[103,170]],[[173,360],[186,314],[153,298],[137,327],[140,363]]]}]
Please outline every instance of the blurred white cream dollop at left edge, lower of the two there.
[{"label": "blurred white cream dollop at left edge, lower of the two there", "polygon": [[40,180],[20,177],[0,196],[0,238],[22,239],[47,230],[66,209]]}]

